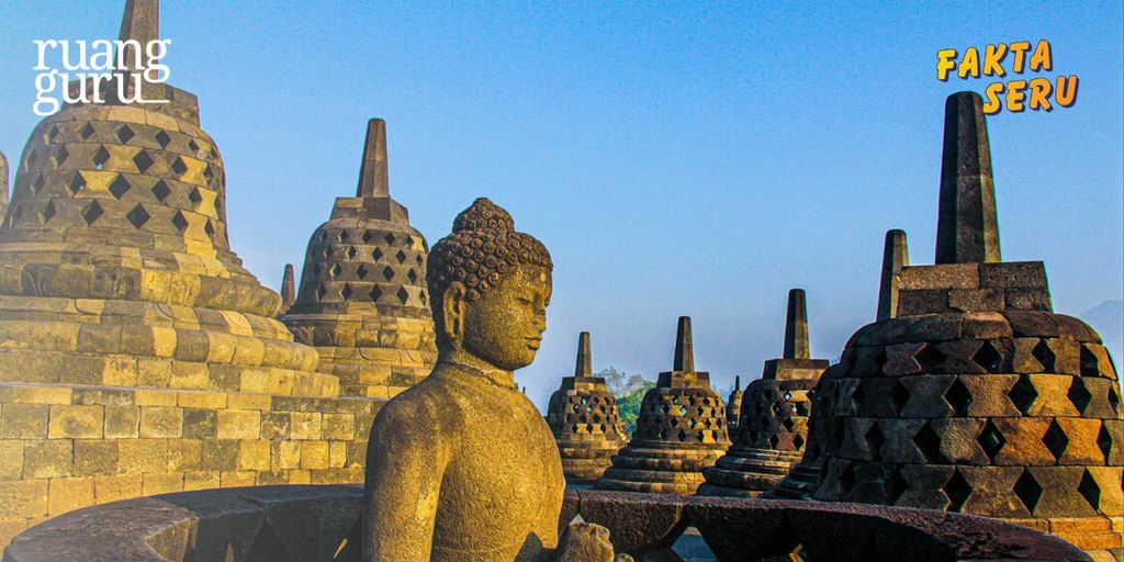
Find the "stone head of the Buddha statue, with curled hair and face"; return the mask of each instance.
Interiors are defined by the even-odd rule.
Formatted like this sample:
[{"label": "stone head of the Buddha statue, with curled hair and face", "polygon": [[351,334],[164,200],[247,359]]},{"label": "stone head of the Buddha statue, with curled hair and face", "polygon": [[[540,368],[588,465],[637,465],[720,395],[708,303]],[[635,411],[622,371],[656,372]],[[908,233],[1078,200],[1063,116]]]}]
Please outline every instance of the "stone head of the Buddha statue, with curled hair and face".
[{"label": "stone head of the Buddha statue, with curled hair and face", "polygon": [[546,329],[552,268],[546,247],[517,232],[511,215],[473,201],[427,262],[439,359],[505,371],[529,365]]}]

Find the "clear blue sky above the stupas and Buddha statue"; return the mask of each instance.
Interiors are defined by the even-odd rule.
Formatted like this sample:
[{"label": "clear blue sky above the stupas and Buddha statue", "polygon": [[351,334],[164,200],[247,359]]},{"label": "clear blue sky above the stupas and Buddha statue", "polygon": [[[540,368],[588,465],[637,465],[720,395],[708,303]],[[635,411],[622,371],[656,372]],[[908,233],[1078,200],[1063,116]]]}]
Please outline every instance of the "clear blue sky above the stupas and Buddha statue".
[{"label": "clear blue sky above the stupas and Buddha statue", "polygon": [[[1124,298],[1122,4],[165,1],[171,82],[226,162],[234,248],[264,283],[353,192],[388,120],[391,193],[430,244],[487,196],[555,263],[541,405],[592,332],[593,366],[654,378],[676,318],[716,386],[872,320],[883,233],[932,263],[945,96],[936,52],[1049,39],[1077,103],[989,119],[1003,254],[1043,260],[1054,307]],[[114,38],[124,1],[0,3],[0,149],[37,117],[33,39]],[[1027,76],[1030,78],[1030,76]],[[1111,342],[1121,361],[1121,342]]]}]

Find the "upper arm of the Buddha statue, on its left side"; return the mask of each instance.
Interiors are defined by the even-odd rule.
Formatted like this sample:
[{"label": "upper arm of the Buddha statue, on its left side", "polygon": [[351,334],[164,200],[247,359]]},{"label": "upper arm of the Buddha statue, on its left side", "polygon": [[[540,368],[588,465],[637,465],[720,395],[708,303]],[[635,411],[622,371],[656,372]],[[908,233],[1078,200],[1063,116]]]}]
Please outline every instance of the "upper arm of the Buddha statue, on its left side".
[{"label": "upper arm of the Buddha statue, on its left side", "polygon": [[439,422],[425,405],[392,401],[371,428],[364,488],[363,560],[430,558],[447,462]]}]

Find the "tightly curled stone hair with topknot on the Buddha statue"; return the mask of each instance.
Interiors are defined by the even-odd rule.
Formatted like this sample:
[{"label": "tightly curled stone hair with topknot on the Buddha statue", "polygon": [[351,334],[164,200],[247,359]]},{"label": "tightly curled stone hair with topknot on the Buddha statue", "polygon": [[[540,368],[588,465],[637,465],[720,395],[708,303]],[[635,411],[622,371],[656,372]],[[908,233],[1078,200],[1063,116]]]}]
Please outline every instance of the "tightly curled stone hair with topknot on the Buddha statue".
[{"label": "tightly curled stone hair with topknot on the Buddha statue", "polygon": [[441,302],[453,281],[464,283],[465,298],[475,300],[520,264],[553,269],[546,246],[515,229],[511,215],[480,198],[453,220],[453,233],[429,250],[426,284],[430,302]]}]

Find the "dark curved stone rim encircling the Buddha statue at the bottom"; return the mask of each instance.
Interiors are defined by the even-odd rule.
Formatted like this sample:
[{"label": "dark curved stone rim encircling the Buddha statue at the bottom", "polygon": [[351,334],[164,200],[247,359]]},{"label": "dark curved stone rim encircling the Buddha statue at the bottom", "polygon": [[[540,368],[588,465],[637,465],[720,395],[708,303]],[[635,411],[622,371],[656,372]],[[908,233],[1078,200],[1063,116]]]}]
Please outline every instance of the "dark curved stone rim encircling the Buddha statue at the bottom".
[{"label": "dark curved stone rim encircling the Buddha statue at the bottom", "polygon": [[[169,493],[72,511],[17,536],[3,562],[359,562],[361,486]],[[1057,537],[970,515],[814,501],[568,490],[637,562],[1088,561]]]}]

